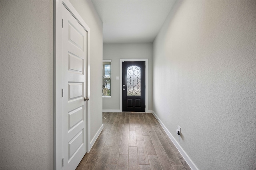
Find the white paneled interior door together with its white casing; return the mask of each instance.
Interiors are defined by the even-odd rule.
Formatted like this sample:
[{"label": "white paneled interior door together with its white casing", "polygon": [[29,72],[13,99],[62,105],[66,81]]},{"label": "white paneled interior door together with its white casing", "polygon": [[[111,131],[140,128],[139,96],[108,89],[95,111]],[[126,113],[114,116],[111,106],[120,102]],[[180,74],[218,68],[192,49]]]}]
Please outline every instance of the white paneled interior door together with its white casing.
[{"label": "white paneled interior door together with its white casing", "polygon": [[54,5],[54,169],[72,170],[90,150],[90,29],[69,1]]}]

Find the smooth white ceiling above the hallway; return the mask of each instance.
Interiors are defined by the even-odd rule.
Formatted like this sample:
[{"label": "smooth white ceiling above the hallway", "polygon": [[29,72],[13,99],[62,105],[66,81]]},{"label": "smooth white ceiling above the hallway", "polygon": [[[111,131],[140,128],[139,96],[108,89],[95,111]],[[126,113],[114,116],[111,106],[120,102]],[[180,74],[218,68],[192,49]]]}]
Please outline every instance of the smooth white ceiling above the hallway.
[{"label": "smooth white ceiling above the hallway", "polygon": [[103,43],[152,43],[175,0],[92,0]]}]

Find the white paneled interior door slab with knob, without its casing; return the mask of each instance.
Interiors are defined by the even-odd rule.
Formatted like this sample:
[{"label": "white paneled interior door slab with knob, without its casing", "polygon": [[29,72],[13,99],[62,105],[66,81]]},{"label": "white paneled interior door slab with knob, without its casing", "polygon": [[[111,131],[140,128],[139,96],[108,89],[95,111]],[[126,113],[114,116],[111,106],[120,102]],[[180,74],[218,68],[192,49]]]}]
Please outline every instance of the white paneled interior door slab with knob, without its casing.
[{"label": "white paneled interior door slab with knob, without its casing", "polygon": [[[62,6],[63,169],[74,170],[86,154],[88,32]],[[87,98],[87,97],[86,97]]]}]

